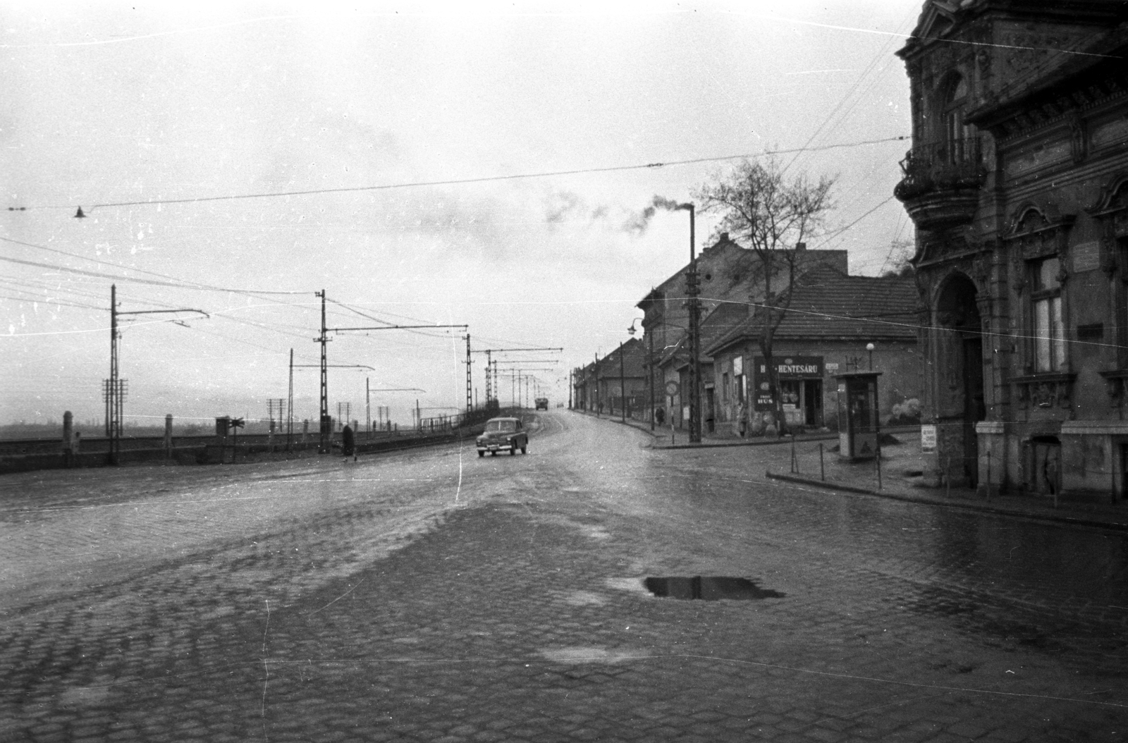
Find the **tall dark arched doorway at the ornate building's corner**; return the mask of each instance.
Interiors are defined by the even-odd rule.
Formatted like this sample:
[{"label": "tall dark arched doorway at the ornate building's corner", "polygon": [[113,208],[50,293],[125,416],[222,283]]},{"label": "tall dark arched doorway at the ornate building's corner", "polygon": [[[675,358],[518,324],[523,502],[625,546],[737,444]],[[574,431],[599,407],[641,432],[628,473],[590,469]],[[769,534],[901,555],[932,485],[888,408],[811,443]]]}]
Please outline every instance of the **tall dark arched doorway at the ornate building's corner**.
[{"label": "tall dark arched doorway at the ornate building's corner", "polygon": [[945,477],[968,487],[979,480],[976,423],[987,417],[977,293],[975,282],[955,273],[936,298],[936,417],[943,431],[937,453]]}]

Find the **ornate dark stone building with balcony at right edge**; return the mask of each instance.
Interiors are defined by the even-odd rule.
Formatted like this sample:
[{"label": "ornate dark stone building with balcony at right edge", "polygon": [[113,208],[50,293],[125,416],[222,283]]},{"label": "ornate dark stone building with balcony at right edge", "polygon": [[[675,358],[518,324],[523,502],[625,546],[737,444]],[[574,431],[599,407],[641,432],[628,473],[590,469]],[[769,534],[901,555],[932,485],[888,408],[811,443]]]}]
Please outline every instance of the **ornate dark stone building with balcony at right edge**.
[{"label": "ornate dark stone building with balcony at right edge", "polygon": [[914,147],[926,477],[1128,494],[1128,3],[929,0]]}]

